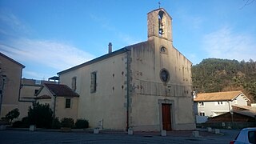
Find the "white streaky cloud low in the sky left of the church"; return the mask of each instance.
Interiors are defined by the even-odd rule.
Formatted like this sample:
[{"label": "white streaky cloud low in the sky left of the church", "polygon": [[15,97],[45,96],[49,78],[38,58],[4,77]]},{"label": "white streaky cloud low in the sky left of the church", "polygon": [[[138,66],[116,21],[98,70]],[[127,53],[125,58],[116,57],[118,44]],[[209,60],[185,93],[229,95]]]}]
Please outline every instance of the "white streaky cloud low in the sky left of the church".
[{"label": "white streaky cloud low in the sky left of the church", "polygon": [[0,42],[0,50],[20,62],[34,62],[55,70],[64,70],[94,58],[92,54],[62,42],[29,38]]}]

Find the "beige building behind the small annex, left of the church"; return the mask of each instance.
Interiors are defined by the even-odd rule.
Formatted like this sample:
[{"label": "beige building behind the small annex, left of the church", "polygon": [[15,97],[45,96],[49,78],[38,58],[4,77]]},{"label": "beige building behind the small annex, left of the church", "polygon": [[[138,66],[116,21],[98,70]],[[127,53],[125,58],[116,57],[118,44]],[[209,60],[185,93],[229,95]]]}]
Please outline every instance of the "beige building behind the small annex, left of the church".
[{"label": "beige building behind the small annex, left of the church", "polygon": [[33,106],[33,102],[35,102],[38,90],[44,83],[56,83],[44,80],[34,80],[22,78],[22,85],[19,95],[19,103],[18,110],[20,112],[19,119],[22,119],[27,116],[28,110],[30,106]]}]

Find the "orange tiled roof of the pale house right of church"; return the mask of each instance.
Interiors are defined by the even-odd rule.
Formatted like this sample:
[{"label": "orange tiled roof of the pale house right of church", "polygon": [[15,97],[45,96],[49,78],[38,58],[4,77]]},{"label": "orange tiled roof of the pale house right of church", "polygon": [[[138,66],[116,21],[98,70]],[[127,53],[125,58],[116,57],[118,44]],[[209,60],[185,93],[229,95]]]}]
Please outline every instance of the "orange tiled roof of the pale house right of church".
[{"label": "orange tiled roof of the pale house right of church", "polygon": [[[194,98],[195,102],[216,102],[216,101],[231,101],[238,95],[242,94],[242,91],[225,91],[217,93],[202,93],[197,94],[197,98]],[[246,98],[244,94],[243,97]],[[248,98],[246,100],[250,101]]]}]

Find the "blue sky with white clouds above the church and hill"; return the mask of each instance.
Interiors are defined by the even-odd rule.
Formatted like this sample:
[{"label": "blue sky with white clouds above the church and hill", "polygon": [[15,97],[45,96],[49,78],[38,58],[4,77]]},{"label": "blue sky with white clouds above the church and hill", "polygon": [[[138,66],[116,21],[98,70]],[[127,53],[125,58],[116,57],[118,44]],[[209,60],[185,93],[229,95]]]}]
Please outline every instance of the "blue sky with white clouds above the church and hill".
[{"label": "blue sky with white clouds above the church and hill", "polygon": [[[0,0],[0,52],[22,78],[58,72],[147,40],[158,0]],[[205,58],[256,60],[256,0],[161,0],[173,42],[194,65]]]}]

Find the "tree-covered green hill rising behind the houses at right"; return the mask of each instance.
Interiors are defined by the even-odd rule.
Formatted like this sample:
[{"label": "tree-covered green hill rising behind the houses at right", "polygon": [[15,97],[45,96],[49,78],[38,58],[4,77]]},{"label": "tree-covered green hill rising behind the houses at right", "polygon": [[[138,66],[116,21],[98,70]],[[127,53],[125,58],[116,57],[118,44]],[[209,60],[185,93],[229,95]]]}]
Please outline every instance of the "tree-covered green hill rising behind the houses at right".
[{"label": "tree-covered green hill rising behind the houses at right", "polygon": [[[256,102],[256,62],[207,58],[192,66],[193,87],[198,93],[242,90]],[[252,99],[253,98],[253,99]]]}]

